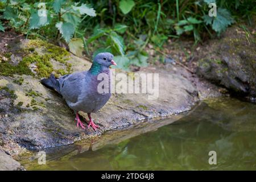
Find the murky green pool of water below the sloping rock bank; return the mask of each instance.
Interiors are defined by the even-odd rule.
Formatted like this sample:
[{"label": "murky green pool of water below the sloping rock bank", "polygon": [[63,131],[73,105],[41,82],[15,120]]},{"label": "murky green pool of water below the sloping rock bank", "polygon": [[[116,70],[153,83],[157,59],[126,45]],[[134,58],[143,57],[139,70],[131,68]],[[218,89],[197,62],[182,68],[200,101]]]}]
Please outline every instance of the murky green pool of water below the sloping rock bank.
[{"label": "murky green pool of water below the sloping rock bank", "polygon": [[[23,164],[28,170],[256,170],[255,113],[247,102],[206,101],[175,122],[162,121],[166,126],[109,133],[47,152],[46,165]],[[216,165],[209,164],[209,151],[216,151]]]}]

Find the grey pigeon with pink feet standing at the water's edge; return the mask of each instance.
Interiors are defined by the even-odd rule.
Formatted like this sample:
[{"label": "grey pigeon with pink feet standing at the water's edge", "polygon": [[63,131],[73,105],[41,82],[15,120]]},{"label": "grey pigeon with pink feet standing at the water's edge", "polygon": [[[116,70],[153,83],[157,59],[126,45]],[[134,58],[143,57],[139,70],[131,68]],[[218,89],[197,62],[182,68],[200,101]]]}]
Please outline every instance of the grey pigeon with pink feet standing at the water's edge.
[{"label": "grey pigeon with pink feet standing at the water's edge", "polygon": [[[49,78],[41,80],[41,83],[63,96],[68,106],[76,113],[77,127],[81,126],[82,129],[85,129],[78,114],[79,111],[84,111],[89,117],[88,127],[92,126],[96,130],[98,126],[92,121],[90,113],[101,109],[111,96],[110,65],[117,65],[113,60],[113,55],[109,52],[98,53],[88,71],[64,75],[60,78],[55,78],[51,74]],[[98,92],[98,84],[102,81],[98,79],[98,76],[101,73],[108,76],[108,92]]]}]

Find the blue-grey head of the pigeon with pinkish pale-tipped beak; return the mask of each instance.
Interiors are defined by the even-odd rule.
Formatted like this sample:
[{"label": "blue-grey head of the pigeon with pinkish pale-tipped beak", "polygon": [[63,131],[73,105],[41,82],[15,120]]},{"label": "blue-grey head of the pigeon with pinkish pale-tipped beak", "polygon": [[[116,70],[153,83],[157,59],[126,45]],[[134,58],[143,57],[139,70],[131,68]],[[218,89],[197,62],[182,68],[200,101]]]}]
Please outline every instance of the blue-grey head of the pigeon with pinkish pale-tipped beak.
[{"label": "blue-grey head of the pigeon with pinkish pale-tipped beak", "polygon": [[113,60],[113,57],[112,53],[109,52],[98,53],[94,58],[93,63],[100,64],[101,67],[109,68],[110,65],[117,65]]}]

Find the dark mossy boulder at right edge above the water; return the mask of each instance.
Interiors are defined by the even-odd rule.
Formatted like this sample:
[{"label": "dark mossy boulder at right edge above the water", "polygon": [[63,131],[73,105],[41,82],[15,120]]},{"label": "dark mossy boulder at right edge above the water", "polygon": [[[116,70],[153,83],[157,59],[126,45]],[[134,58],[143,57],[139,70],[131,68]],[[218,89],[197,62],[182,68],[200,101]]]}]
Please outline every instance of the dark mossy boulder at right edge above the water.
[{"label": "dark mossy boulder at right edge above the water", "polygon": [[247,38],[245,30],[228,28],[220,40],[212,40],[198,61],[197,74],[230,92],[250,99],[256,97],[256,35]]}]

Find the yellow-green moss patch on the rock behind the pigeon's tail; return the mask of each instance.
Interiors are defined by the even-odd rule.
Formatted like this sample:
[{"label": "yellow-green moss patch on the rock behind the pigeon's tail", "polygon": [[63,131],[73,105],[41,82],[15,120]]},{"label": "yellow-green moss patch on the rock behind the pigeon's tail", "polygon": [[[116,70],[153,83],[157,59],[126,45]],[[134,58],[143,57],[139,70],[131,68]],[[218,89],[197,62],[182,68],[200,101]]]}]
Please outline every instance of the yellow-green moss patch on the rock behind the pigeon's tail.
[{"label": "yellow-green moss patch on the rock behind the pigeon's tail", "polygon": [[[35,47],[45,49],[46,53],[39,55],[35,52]],[[69,52],[53,44],[44,42],[42,40],[30,40],[26,49],[20,51],[23,53],[23,59],[18,65],[12,65],[8,62],[0,63],[0,75],[13,76],[17,75],[35,75],[29,68],[29,65],[34,63],[36,65],[36,73],[39,77],[48,77],[54,71],[51,59],[63,63],[67,67],[67,72],[64,69],[59,69],[56,72],[60,75],[65,75],[71,72],[71,64],[67,63]],[[32,52],[32,53],[31,53]],[[5,57],[10,57],[11,53],[6,53]]]}]

